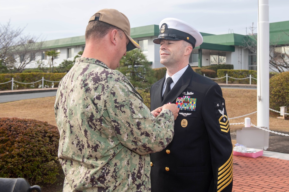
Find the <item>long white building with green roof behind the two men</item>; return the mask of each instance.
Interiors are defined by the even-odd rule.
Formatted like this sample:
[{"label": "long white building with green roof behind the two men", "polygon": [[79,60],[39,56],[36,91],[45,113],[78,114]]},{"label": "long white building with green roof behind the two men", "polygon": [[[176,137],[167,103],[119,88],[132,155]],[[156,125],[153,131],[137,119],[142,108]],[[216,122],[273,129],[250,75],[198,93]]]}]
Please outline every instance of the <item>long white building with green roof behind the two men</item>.
[{"label": "long white building with green roof behind the two men", "polygon": [[[201,67],[215,64],[232,64],[234,65],[234,69],[257,70],[256,55],[245,47],[245,42],[253,36],[235,33],[213,35],[201,32],[201,34],[203,35],[203,43],[193,49],[189,61],[191,66]],[[153,43],[153,39],[157,38],[158,35],[158,25],[131,28],[131,37],[142,47],[141,51],[147,55],[151,68],[163,67],[160,64],[160,45]],[[277,54],[284,54],[282,52],[286,52],[286,49],[288,49],[287,45],[289,44],[289,21],[270,24],[270,43],[277,46],[275,49]],[[49,58],[45,56],[45,51],[56,50],[60,54],[54,60],[54,66],[58,66],[63,60],[73,60],[77,53],[83,51],[84,48],[84,35],[45,41],[42,57],[37,57],[35,60],[47,62]],[[275,52],[274,54],[276,54]],[[35,67],[35,62],[27,66],[27,68],[33,67]]]}]

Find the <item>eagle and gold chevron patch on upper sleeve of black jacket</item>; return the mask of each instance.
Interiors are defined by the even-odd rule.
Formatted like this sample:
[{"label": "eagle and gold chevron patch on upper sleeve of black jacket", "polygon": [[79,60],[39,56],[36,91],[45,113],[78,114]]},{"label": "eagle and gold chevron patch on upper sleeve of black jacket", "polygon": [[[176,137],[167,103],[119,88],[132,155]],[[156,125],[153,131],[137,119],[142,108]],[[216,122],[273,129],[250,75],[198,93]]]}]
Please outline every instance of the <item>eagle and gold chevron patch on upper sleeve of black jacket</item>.
[{"label": "eagle and gold chevron patch on upper sleeve of black jacket", "polygon": [[227,117],[225,109],[225,100],[214,102],[214,105],[220,132],[223,134],[228,134],[230,126],[229,126],[229,119]]}]

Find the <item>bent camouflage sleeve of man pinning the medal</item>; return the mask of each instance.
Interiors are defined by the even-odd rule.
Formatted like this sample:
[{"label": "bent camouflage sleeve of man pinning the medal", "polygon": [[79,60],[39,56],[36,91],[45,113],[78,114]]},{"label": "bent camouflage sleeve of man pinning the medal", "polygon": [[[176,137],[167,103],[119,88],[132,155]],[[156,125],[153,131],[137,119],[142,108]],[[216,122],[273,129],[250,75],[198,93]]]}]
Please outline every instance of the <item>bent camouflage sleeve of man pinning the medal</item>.
[{"label": "bent camouflage sleeve of man pinning the medal", "polygon": [[173,139],[173,113],[166,109],[155,118],[131,85],[118,81],[111,88],[105,105],[122,145],[140,155],[164,149]]}]

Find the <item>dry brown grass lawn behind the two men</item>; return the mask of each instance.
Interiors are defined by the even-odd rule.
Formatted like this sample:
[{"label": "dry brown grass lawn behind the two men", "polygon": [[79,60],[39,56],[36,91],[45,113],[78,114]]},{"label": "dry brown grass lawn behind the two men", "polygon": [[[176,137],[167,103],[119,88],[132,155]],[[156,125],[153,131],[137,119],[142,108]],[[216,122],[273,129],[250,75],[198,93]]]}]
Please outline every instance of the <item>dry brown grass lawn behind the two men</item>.
[{"label": "dry brown grass lawn behind the two men", "polygon": [[[257,91],[249,89],[223,88],[223,96],[226,100],[226,110],[229,118],[246,115],[257,111]],[[7,103],[0,103],[0,117],[17,117],[23,119],[36,119],[47,121],[56,126],[54,117],[55,97],[28,99]],[[289,132],[289,120],[278,119],[278,113],[270,113],[270,130]],[[257,125],[257,113],[246,116]],[[230,123],[244,122],[245,117],[231,119]],[[231,131],[241,129],[244,125],[232,125]]]}]

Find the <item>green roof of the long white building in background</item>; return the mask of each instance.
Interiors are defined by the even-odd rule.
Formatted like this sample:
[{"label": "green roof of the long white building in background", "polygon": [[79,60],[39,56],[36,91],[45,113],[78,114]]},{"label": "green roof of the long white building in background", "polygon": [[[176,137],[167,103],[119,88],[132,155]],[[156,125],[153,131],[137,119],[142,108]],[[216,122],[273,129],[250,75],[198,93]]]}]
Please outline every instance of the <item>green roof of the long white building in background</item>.
[{"label": "green roof of the long white building in background", "polygon": [[[150,37],[159,35],[158,25],[147,25],[131,28],[132,38]],[[213,49],[223,51],[234,51],[233,45],[244,46],[244,41],[248,38],[246,35],[235,33],[213,35],[209,33],[201,33],[203,36],[203,44],[196,48]],[[254,36],[250,36],[254,38]],[[285,45],[289,44],[289,21],[270,23],[270,44]],[[45,41],[43,49],[55,49],[59,47],[69,47],[75,45],[85,45],[85,37],[68,37],[64,39],[55,39]],[[221,46],[223,45],[223,46]]]}]

